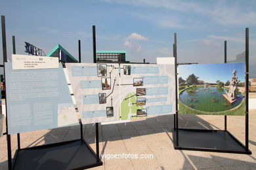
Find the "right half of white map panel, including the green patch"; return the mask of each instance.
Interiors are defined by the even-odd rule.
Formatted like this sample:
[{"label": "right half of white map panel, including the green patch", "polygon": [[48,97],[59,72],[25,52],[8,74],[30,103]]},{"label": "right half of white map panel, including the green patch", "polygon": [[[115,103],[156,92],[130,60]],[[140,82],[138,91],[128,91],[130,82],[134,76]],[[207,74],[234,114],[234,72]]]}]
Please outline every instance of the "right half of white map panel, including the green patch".
[{"label": "right half of white map panel, including the green patch", "polygon": [[175,114],[174,65],[121,64],[120,119]]}]

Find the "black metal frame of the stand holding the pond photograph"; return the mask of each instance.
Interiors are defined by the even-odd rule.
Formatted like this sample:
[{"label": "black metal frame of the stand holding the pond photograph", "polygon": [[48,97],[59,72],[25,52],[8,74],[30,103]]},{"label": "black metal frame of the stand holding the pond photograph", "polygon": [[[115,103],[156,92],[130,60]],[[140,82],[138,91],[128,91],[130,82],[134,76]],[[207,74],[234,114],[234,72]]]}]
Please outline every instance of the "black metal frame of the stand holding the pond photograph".
[{"label": "black metal frame of the stand holding the pond photograph", "polygon": [[[226,153],[236,153],[236,154],[251,154],[251,150],[249,150],[249,107],[248,107],[248,85],[249,85],[249,28],[245,29],[245,145],[242,144],[232,133],[227,130],[227,123],[226,123],[226,115],[224,115],[224,130],[212,130],[212,129],[182,129],[179,128],[179,107],[178,107],[178,88],[177,88],[177,35],[175,33],[175,43],[173,44],[173,57],[175,58],[175,98],[176,98],[176,114],[174,115],[174,128],[173,128],[173,143],[175,150],[198,150],[198,151],[207,151],[207,152],[226,152]],[[226,41],[224,41],[224,63],[226,63]],[[198,147],[196,144],[195,146],[181,146],[179,144],[179,131],[186,131],[186,133],[191,133],[194,135],[193,132],[200,132],[205,133],[208,132],[209,134],[213,133],[224,133],[228,137],[231,137],[232,141],[236,143],[242,150],[230,150],[230,149],[217,149],[215,146],[212,148],[203,148]],[[190,136],[191,136],[190,135]],[[189,138],[189,137],[188,137]],[[203,139],[202,139],[203,140]],[[227,139],[218,139],[219,143],[224,143]],[[192,144],[193,145],[193,144]]]}]

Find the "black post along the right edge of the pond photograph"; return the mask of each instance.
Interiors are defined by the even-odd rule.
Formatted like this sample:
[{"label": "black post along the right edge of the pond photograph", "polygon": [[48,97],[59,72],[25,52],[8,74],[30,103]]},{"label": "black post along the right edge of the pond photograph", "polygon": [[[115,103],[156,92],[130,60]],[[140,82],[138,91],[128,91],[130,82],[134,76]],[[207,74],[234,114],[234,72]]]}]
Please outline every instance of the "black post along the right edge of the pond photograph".
[{"label": "black post along the right edge of the pond photograph", "polygon": [[249,28],[245,29],[245,150],[249,150]]}]

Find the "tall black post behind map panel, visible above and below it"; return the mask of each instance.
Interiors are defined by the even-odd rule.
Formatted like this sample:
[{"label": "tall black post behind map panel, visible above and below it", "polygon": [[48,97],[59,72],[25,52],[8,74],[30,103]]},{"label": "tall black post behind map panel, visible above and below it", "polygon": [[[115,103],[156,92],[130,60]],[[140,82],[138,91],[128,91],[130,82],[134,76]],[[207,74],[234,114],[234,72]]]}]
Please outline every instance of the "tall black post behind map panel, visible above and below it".
[{"label": "tall black post behind map panel, visible above and below it", "polygon": [[[96,63],[96,34],[95,25],[93,25],[93,63]],[[100,152],[98,144],[98,123],[95,124],[95,137],[96,137],[96,159],[97,162],[100,161]]]}]

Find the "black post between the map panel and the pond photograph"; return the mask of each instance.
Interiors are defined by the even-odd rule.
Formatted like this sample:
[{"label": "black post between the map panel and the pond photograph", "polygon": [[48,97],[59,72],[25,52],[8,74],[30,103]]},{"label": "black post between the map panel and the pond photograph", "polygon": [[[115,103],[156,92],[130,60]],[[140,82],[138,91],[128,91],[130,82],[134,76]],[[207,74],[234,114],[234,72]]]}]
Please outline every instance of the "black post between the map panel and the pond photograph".
[{"label": "black post between the map panel and the pond photograph", "polygon": [[175,54],[175,118],[176,118],[176,145],[179,146],[179,108],[178,108],[178,87],[177,87],[177,34],[174,33],[174,54]]}]

